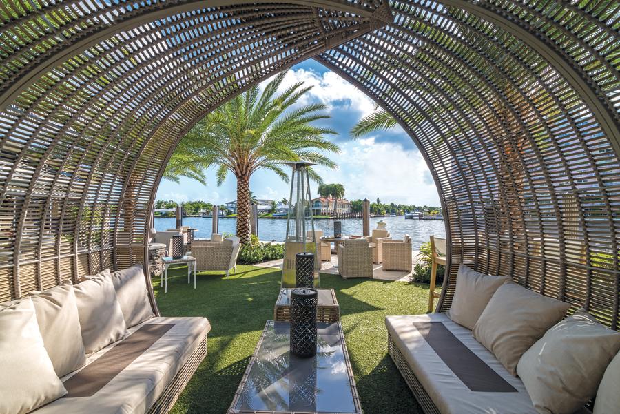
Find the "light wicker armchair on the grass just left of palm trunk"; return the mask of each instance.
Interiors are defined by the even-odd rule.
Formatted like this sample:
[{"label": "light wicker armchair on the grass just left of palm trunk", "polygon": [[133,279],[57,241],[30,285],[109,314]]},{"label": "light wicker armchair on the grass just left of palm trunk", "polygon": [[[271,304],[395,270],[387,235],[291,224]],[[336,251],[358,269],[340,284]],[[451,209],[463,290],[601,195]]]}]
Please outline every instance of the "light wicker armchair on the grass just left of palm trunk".
[{"label": "light wicker armchair on the grass just left of palm trunk", "polygon": [[196,240],[192,243],[192,256],[196,258],[196,271],[237,269],[237,256],[241,245],[238,237],[225,238],[221,242]]}]

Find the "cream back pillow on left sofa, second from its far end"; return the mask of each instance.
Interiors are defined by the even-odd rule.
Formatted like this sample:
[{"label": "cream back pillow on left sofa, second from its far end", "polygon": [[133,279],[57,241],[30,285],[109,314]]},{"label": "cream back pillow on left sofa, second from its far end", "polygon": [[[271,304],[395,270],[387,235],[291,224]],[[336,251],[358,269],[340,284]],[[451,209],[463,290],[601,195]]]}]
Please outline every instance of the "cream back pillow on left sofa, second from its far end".
[{"label": "cream back pillow on left sofa, second from its far end", "polygon": [[127,324],[116,298],[110,270],[89,276],[76,284],[74,291],[86,353],[99,351],[125,337]]}]

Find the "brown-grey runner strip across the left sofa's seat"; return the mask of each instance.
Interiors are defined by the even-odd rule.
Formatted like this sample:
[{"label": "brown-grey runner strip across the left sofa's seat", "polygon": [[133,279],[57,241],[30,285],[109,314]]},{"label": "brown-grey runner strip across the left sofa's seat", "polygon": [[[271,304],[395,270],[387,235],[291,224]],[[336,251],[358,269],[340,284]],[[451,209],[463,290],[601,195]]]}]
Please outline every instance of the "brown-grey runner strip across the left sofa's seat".
[{"label": "brown-grey runner strip across the left sofa's seat", "polygon": [[66,397],[90,397],[112,381],[174,324],[145,324],[64,382]]}]

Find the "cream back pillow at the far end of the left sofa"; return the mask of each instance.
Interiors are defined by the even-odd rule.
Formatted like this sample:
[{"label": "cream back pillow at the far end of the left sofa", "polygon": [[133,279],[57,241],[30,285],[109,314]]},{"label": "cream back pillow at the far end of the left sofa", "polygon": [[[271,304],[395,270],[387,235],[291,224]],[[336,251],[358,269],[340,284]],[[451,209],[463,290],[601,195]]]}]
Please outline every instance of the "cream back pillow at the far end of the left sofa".
[{"label": "cream back pillow at the far end of the left sofa", "polygon": [[121,304],[127,328],[154,316],[147,292],[144,268],[140,263],[112,273],[112,283]]}]

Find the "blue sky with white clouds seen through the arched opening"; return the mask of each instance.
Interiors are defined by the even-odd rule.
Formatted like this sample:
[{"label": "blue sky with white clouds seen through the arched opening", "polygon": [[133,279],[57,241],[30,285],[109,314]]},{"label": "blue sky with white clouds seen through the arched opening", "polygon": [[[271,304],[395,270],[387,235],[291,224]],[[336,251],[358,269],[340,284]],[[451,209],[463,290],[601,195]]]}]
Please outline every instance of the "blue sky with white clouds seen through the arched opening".
[{"label": "blue sky with white clouds seen through the arched opening", "polygon": [[[373,112],[375,104],[363,92],[344,81],[331,70],[310,60],[288,71],[282,88],[298,81],[313,85],[313,89],[299,105],[322,102],[329,107],[331,119],[322,125],[338,132],[331,139],[340,146],[340,154],[331,154],[338,164],[332,170],[318,167],[317,171],[326,183],[342,183],[345,197],[379,197],[384,203],[415,205],[439,205],[437,189],[428,166],[411,138],[397,127],[390,132],[379,132],[351,140],[349,131],[356,122]],[[316,193],[316,184],[313,195]],[[267,171],[254,173],[250,188],[258,198],[280,200],[287,197],[289,185],[276,174]],[[207,186],[195,180],[182,178],[180,183],[162,180],[157,192],[158,199],[203,200],[221,204],[236,199],[236,180],[229,174],[225,183],[217,187],[214,170],[207,173]]]}]

